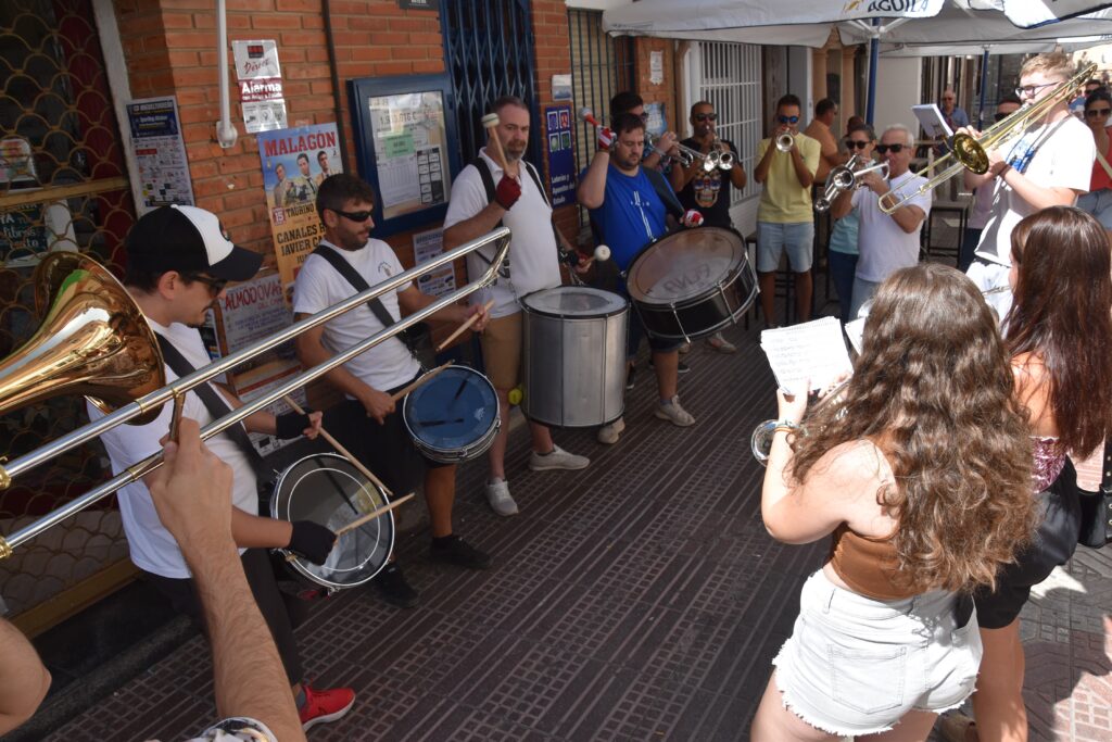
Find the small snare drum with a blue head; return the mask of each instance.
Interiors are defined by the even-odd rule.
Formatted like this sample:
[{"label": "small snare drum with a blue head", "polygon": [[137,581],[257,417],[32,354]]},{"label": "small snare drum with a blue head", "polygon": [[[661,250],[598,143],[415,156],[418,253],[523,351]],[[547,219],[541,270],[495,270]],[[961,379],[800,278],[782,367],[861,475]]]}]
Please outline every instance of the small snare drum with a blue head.
[{"label": "small snare drum with a blue head", "polygon": [[481,456],[498,435],[498,396],[486,376],[448,366],[406,395],[401,419],[414,445],[441,464]]}]

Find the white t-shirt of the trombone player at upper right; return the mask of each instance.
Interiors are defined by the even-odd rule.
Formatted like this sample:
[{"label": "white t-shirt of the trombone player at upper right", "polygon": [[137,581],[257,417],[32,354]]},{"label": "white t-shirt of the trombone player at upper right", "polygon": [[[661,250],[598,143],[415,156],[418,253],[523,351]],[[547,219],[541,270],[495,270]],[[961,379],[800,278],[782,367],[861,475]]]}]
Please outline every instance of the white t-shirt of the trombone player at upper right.
[{"label": "white t-shirt of the trombone player at upper right", "polygon": [[[1024,133],[1009,149],[1005,159],[1037,186],[1088,192],[1096,144],[1089,127],[1072,116],[1064,116]],[[992,215],[981,233],[976,255],[1006,266],[1012,261],[1012,229],[1037,209],[1016,195],[1003,178],[994,182]]]}]

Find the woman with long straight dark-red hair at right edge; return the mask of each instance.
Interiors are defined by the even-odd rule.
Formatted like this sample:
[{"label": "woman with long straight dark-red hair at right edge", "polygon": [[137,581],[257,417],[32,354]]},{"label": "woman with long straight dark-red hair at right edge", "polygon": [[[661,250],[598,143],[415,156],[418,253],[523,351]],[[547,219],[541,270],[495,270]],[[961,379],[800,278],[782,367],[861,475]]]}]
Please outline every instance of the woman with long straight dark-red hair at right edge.
[{"label": "woman with long straight dark-red hair at right edge", "polygon": [[976,724],[945,720],[947,739],[1026,740],[1020,611],[1031,587],[1078,546],[1080,511],[1066,452],[1083,459],[1112,433],[1112,248],[1081,209],[1055,206],[1012,231],[1012,308],[1004,342],[1016,398],[1034,436],[1036,502],[1043,514],[1030,547],[994,590],[974,595],[984,659],[973,696]]}]

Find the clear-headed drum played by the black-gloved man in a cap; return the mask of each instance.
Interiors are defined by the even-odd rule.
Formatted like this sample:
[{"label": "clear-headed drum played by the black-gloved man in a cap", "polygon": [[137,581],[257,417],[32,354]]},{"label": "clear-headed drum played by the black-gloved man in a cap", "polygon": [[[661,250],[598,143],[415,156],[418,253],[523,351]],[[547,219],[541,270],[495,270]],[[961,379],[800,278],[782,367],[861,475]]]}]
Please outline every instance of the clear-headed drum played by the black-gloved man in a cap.
[{"label": "clear-headed drum played by the black-gloved man in a cap", "polygon": [[[386,505],[386,495],[337,454],[314,454],[291,464],[278,477],[270,515],[282,521],[312,521],[332,532]],[[295,572],[329,591],[369,582],[394,551],[394,513],[340,535],[324,564],[288,556]],[[291,554],[291,553],[289,553]]]}]

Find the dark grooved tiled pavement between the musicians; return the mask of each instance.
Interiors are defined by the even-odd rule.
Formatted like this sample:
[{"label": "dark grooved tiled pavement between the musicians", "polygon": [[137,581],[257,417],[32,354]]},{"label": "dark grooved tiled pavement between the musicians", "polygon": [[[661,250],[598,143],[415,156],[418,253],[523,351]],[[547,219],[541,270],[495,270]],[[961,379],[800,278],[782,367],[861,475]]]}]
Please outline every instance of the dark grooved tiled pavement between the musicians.
[{"label": "dark grooved tiled pavement between the musicians", "polygon": [[[774,543],[759,521],[763,469],[748,453],[772,415],[756,332],[736,356],[696,344],[683,377],[698,423],[652,417],[644,366],[612,447],[557,433],[584,472],[533,473],[524,435],[507,457],[522,514],[498,518],[483,465],[460,473],[457,530],[496,566],[463,573],[399,546],[420,590],[399,611],[355,590],[299,627],[317,684],[357,705],[310,740],[738,740],[823,547]],[[1112,740],[1112,553],[1079,553],[1024,614],[1032,739]],[[50,740],[179,740],[214,719],[211,665],[195,637]]]}]

